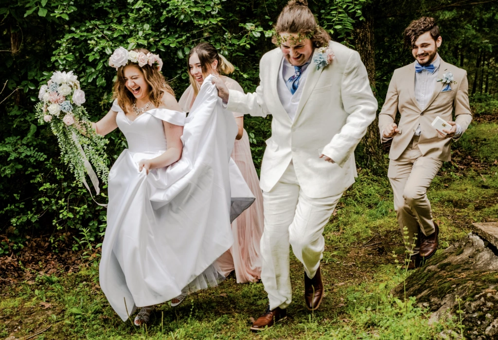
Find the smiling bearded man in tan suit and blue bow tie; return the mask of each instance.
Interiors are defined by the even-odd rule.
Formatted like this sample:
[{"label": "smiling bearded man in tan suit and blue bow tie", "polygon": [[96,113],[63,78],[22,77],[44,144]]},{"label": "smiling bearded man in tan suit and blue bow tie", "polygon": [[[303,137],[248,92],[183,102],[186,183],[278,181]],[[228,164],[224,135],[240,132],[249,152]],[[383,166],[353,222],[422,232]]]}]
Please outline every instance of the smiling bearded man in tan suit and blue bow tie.
[{"label": "smiling bearded man in tan suit and blue bow tie", "polygon": [[[379,130],[382,142],[392,138],[387,177],[401,232],[408,229],[408,249],[415,244],[408,265],[412,269],[420,257],[431,257],[438,247],[439,226],[433,221],[427,188],[443,162],[450,160],[451,141],[462,136],[472,113],[467,72],[438,55],[442,38],[435,20],[412,21],[405,29],[405,42],[416,60],[394,71],[379,114]],[[398,112],[401,118],[396,124]],[[438,116],[447,128],[432,126]]]}]

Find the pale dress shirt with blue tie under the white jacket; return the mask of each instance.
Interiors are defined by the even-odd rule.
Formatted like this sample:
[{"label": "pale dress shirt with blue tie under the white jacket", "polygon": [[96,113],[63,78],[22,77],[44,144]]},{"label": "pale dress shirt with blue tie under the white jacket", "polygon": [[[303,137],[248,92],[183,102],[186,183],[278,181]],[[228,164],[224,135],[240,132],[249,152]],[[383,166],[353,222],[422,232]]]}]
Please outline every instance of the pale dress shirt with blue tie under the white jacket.
[{"label": "pale dress shirt with blue tie under the white jacket", "polygon": [[[311,59],[311,58],[310,58]],[[304,83],[306,82],[306,77],[309,73],[308,66],[310,61],[301,67],[301,77],[299,78],[299,86],[292,94],[287,87],[286,81],[292,77],[295,73],[294,66],[291,65],[287,59],[282,58],[282,63],[280,64],[280,70],[278,71],[278,81],[277,81],[277,92],[280,103],[282,103],[285,112],[289,115],[290,120],[294,121],[296,115],[297,107],[299,105],[299,100],[303,93]]]}]

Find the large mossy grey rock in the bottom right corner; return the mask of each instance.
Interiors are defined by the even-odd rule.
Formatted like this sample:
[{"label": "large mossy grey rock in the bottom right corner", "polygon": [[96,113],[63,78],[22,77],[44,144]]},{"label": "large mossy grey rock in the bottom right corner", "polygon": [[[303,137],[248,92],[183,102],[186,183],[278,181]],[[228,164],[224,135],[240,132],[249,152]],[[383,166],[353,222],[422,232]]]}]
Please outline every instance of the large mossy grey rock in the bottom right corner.
[{"label": "large mossy grey rock in the bottom right corner", "polygon": [[[457,317],[460,297],[466,339],[498,339],[497,290],[498,256],[473,233],[439,251],[406,279],[406,297],[415,296],[429,308],[431,322]],[[391,293],[404,298],[403,283]]]}]

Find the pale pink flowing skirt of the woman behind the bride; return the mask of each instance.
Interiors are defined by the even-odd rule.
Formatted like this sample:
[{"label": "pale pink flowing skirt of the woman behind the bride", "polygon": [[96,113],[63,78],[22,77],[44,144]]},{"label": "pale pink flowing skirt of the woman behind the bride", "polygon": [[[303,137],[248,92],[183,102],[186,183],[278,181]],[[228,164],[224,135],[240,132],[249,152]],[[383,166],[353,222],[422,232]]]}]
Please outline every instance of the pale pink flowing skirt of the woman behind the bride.
[{"label": "pale pink flowing skirt of the woman behind the bride", "polygon": [[225,276],[235,270],[237,283],[255,282],[261,277],[259,241],[263,233],[263,196],[246,130],[242,138],[235,141],[232,158],[256,200],[232,223],[234,245],[218,258],[217,263]]}]

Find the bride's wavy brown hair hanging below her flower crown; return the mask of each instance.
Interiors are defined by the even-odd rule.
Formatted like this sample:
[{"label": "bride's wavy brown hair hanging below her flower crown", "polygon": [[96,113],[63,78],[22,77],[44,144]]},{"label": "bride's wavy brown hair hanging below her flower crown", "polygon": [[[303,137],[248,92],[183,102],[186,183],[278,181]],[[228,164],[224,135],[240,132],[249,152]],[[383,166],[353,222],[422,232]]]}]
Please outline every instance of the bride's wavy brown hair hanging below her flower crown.
[{"label": "bride's wavy brown hair hanging below her flower crown", "polygon": [[[145,48],[134,48],[131,51],[142,52],[144,54],[150,53],[150,51]],[[123,108],[124,112],[132,112],[133,103],[135,102],[135,97],[125,86],[124,69],[127,66],[134,66],[143,74],[145,82],[150,86],[148,93],[149,101],[156,108],[161,106],[161,99],[165,92],[170,93],[173,96],[175,95],[162,73],[157,69],[157,66],[145,64],[144,66],[139,67],[138,64],[128,61],[126,65],[121,66],[118,69],[118,78],[114,83],[114,98],[118,100],[118,105]]]}]

